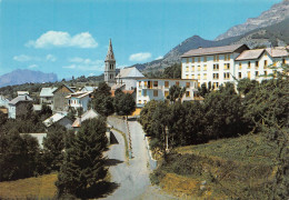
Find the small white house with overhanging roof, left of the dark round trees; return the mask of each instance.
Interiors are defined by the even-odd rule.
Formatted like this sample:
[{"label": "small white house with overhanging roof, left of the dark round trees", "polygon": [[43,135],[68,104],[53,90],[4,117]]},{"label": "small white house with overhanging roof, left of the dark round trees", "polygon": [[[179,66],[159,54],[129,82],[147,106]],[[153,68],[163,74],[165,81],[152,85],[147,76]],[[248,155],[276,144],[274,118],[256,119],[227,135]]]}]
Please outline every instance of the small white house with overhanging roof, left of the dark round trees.
[{"label": "small white house with overhanging roof, left of the dark round trees", "polygon": [[82,108],[83,111],[87,111],[91,93],[92,91],[78,91],[74,93],[70,93],[69,96],[66,97],[68,101],[68,107],[74,109]]}]

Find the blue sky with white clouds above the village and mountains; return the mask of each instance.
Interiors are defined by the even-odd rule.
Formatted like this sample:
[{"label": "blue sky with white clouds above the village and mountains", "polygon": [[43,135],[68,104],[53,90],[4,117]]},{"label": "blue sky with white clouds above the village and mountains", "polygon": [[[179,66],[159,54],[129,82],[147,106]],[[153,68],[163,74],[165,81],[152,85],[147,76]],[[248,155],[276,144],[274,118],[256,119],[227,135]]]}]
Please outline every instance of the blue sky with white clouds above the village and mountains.
[{"label": "blue sky with white clouds above the village and mountains", "polygon": [[189,37],[213,40],[281,0],[0,0],[0,76],[16,69],[59,79],[162,58]]}]

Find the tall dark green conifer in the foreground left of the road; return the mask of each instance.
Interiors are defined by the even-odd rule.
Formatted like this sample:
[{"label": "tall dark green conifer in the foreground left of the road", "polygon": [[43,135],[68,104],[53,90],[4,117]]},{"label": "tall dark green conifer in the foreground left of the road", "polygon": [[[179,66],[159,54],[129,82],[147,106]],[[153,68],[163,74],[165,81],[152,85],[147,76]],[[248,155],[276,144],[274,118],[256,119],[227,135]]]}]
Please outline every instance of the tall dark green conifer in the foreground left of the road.
[{"label": "tall dark green conifer in the foreground left of the road", "polygon": [[86,120],[66,150],[64,162],[58,176],[58,196],[79,197],[107,174],[102,156],[107,146],[103,118]]}]

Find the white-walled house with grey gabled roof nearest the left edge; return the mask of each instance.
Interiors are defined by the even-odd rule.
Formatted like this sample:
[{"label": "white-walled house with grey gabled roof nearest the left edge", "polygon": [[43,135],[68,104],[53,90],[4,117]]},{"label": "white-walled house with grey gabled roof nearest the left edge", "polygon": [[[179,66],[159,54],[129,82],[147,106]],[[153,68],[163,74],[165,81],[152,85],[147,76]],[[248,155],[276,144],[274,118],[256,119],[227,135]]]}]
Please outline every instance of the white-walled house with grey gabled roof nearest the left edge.
[{"label": "white-walled house with grey gabled roof nearest the left edge", "polygon": [[33,100],[27,94],[18,96],[17,98],[12,99],[8,103],[8,110],[9,110],[8,117],[16,119],[18,116],[30,112],[27,106]]}]

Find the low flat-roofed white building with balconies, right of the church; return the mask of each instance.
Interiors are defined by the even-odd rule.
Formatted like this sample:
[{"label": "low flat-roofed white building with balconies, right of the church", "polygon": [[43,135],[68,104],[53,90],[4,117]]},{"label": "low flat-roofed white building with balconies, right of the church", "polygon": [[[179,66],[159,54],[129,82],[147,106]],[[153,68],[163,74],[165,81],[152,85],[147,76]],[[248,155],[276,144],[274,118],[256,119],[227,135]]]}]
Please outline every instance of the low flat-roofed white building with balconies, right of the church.
[{"label": "low flat-roofed white building with balconies, right of the church", "polygon": [[192,101],[198,92],[198,81],[191,79],[138,79],[137,107],[143,107],[150,100],[165,100],[172,86],[186,88],[182,101]]}]

